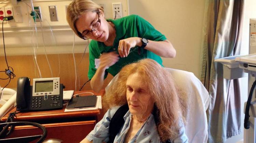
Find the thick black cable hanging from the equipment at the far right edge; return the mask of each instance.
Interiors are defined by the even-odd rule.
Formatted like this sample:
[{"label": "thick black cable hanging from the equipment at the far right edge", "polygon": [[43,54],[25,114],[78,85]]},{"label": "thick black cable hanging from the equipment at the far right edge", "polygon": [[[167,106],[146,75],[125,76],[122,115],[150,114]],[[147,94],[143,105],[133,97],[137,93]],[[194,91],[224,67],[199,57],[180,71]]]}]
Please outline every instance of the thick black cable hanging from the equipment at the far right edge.
[{"label": "thick black cable hanging from the equipment at the far right edge", "polygon": [[256,85],[256,80],[253,82],[252,88],[250,90],[248,99],[247,99],[247,103],[246,103],[246,107],[245,107],[245,115],[244,115],[244,128],[245,129],[249,129],[250,128],[250,122],[249,122],[249,110],[250,110],[250,105],[251,105],[251,101],[252,101],[252,95],[253,95],[253,90],[255,88]]}]

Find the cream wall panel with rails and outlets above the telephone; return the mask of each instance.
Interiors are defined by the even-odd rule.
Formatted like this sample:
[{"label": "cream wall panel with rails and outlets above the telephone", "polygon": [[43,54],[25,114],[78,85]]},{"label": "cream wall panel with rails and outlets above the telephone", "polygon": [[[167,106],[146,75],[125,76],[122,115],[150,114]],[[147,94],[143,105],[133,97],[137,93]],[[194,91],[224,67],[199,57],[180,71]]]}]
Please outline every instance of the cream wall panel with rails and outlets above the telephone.
[{"label": "cream wall panel with rails and outlets above the telephone", "polygon": [[[22,22],[15,22],[14,20],[4,22],[4,40],[5,40],[5,48],[6,54],[10,55],[28,55],[32,54],[32,34],[33,34],[33,20],[30,16],[31,8],[25,4],[25,2],[30,5],[29,0],[20,1],[17,5],[13,5],[11,0],[8,0],[2,4],[1,7],[14,7],[20,6],[22,11]],[[98,4],[105,4],[104,14],[106,18],[112,18],[112,3],[121,2],[122,3],[122,10],[123,16],[128,15],[128,4],[127,0],[93,0],[95,3]],[[41,22],[43,27],[43,35],[44,35],[44,42],[46,46],[46,51],[48,54],[54,53],[72,53],[72,45],[73,45],[73,32],[68,25],[66,20],[66,5],[69,5],[71,0],[33,0],[34,6],[41,7],[42,19]],[[49,5],[56,5],[57,6],[57,15],[58,21],[51,21],[49,16]],[[14,13],[15,17],[16,13]],[[1,22],[1,21],[0,21]],[[2,24],[2,22],[1,22]],[[43,40],[41,34],[41,27],[40,22],[37,22],[37,33],[38,36],[34,36],[33,41],[38,41],[38,54],[44,54],[43,48]],[[50,28],[53,31],[51,33]],[[2,41],[2,30],[0,31],[0,50],[3,49],[3,41]],[[34,34],[36,32],[34,31]],[[77,36],[75,36],[75,52],[82,53],[84,52],[85,45],[87,42]],[[3,56],[4,53],[0,52],[0,56]]]}]

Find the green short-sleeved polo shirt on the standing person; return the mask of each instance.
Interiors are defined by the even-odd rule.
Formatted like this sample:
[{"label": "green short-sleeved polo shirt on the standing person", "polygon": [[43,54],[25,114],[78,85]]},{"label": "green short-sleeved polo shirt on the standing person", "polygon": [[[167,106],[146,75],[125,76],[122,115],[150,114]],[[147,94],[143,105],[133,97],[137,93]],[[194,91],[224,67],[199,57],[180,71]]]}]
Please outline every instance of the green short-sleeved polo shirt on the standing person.
[{"label": "green short-sleeved polo shirt on the standing person", "polygon": [[[141,37],[152,41],[164,41],[167,38],[165,35],[157,31],[149,22],[138,15],[130,15],[120,19],[108,19],[107,21],[112,22],[115,25],[116,37],[113,46],[105,46],[103,42],[92,40],[89,44],[89,71],[88,78],[93,78],[96,73],[95,59],[99,59],[101,53],[116,51],[118,53],[119,41],[129,37]],[[104,78],[107,77],[108,73],[115,76],[122,67],[127,64],[134,63],[144,58],[150,58],[162,65],[162,59],[155,53],[142,49],[140,54],[138,53],[138,46],[130,50],[130,53],[125,58],[120,58],[118,62],[110,66],[105,71]],[[163,65],[162,65],[163,66]]]}]

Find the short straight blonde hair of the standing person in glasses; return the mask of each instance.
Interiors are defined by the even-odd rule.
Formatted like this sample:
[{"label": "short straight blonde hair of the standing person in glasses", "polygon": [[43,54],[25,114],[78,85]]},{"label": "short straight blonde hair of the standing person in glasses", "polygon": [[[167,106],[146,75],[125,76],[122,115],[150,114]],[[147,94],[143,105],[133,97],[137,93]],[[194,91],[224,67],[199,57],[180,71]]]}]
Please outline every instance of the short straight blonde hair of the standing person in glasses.
[{"label": "short straight blonde hair of the standing person in glasses", "polygon": [[77,36],[84,39],[83,35],[76,29],[76,21],[82,14],[86,12],[99,12],[99,10],[104,12],[102,7],[91,0],[73,0],[67,8],[67,21],[70,28],[75,32]]}]

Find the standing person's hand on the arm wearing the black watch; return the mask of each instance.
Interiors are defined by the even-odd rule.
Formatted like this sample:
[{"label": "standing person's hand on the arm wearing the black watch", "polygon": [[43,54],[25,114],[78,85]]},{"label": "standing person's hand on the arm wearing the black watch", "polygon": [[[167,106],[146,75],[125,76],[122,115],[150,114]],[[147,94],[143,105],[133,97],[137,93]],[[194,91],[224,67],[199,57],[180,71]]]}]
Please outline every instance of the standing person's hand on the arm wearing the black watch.
[{"label": "standing person's hand on the arm wearing the black watch", "polygon": [[139,46],[141,43],[141,38],[139,37],[130,37],[119,41],[118,53],[121,58],[127,57],[130,49]]}]

